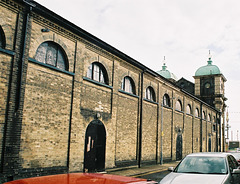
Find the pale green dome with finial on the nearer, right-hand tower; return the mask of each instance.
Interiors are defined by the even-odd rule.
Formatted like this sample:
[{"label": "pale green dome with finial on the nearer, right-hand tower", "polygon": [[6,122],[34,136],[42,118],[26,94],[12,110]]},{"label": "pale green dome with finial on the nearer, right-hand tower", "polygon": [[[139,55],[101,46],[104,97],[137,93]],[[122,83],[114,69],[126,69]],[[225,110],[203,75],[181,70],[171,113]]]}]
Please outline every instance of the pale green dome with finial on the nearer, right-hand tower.
[{"label": "pale green dome with finial on the nearer, right-hand tower", "polygon": [[203,75],[217,75],[221,74],[221,71],[216,65],[212,65],[212,60],[209,58],[208,64],[206,66],[200,67],[196,73],[195,76],[203,76]]}]

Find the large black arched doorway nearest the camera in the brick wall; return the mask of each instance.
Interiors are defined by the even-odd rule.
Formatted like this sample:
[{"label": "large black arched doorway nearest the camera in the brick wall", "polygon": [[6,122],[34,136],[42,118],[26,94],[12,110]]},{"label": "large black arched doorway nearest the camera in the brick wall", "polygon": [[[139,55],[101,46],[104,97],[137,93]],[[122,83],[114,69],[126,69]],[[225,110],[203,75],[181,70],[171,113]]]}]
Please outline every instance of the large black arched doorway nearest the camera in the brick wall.
[{"label": "large black arched doorway nearest the camera in the brick wall", "polygon": [[93,120],[85,133],[84,171],[105,170],[106,130],[100,120]]}]

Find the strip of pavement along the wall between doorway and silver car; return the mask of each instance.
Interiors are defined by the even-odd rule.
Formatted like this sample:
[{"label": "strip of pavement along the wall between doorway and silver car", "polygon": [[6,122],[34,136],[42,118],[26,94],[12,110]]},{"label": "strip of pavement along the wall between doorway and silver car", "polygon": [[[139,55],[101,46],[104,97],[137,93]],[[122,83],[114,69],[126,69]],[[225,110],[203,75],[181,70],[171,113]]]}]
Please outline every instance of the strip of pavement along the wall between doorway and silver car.
[{"label": "strip of pavement along the wall between doorway and silver car", "polygon": [[171,167],[171,166],[175,167],[177,164],[178,162],[173,161],[173,162],[164,163],[162,165],[160,164],[146,165],[146,166],[142,166],[141,168],[138,168],[138,166],[132,166],[132,167],[125,167],[125,168],[108,169],[106,170],[106,172],[107,174],[138,177],[142,174],[164,171],[164,170],[167,170],[168,167]]}]

